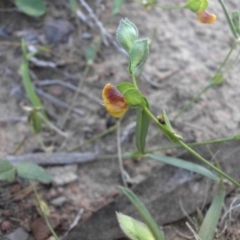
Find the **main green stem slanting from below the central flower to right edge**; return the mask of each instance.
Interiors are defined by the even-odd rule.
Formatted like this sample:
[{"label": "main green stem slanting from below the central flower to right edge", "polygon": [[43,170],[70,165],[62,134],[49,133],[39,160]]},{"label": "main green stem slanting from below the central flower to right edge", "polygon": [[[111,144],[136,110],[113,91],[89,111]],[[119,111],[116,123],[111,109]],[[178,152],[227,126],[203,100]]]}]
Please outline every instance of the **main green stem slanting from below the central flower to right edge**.
[{"label": "main green stem slanting from below the central flower to right edge", "polygon": [[[158,119],[149,111],[147,107],[143,108],[143,110],[148,114],[148,116],[157,124],[157,126],[162,130],[164,127],[161,123],[158,122]],[[164,130],[164,129],[163,129]],[[163,131],[164,132],[164,131]],[[210,162],[208,162],[205,158],[203,158],[201,155],[199,155],[197,152],[195,152],[192,148],[190,148],[187,144],[182,142],[181,140],[177,140],[177,143],[181,145],[183,148],[185,148],[188,152],[190,152],[193,156],[198,158],[201,162],[215,170],[217,173],[219,173],[222,177],[228,179],[230,182],[235,184],[237,187],[240,187],[240,184],[232,179],[230,176],[228,176],[226,173],[222,172],[220,169],[212,165]]]}]

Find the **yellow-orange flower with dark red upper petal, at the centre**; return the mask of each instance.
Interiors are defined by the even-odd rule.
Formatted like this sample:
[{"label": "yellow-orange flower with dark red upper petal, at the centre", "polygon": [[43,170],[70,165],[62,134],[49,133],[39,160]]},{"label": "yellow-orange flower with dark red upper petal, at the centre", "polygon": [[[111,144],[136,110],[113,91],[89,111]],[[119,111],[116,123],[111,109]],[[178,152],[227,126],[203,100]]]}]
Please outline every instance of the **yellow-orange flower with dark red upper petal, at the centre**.
[{"label": "yellow-orange flower with dark red upper petal, at the centre", "polygon": [[128,110],[124,96],[110,83],[106,84],[103,88],[102,98],[104,107],[108,113],[115,118],[120,118]]}]

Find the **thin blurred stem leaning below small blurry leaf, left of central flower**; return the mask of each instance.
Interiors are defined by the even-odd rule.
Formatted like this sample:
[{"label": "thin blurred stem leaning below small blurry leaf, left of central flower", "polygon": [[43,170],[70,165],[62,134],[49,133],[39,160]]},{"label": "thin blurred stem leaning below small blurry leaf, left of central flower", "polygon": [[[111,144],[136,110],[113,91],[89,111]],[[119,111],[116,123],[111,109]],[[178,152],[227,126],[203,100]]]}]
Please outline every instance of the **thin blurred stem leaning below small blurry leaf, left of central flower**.
[{"label": "thin blurred stem leaning below small blurry leaf, left of central flower", "polygon": [[60,129],[63,129],[66,121],[68,120],[69,114],[72,111],[75,102],[77,101],[78,95],[79,95],[79,93],[81,91],[81,88],[82,88],[82,86],[83,86],[83,84],[84,84],[84,82],[86,80],[86,77],[88,75],[88,72],[89,72],[90,68],[91,68],[91,65],[88,64],[85,67],[85,69],[84,69],[83,78],[82,78],[82,80],[79,81],[79,84],[78,84],[78,87],[77,87],[77,91],[75,92],[75,94],[73,96],[73,99],[72,99],[72,103],[69,106],[69,108],[68,108],[67,112],[65,113],[65,115],[63,116],[62,121],[60,122],[60,127],[59,127]]}]

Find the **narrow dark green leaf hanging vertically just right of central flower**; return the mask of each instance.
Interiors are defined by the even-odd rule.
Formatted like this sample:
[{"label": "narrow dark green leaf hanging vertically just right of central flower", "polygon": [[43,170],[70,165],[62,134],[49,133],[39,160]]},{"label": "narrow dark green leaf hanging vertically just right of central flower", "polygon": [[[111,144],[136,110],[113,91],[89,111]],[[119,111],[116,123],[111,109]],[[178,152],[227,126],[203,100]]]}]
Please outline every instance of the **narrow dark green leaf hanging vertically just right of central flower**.
[{"label": "narrow dark green leaf hanging vertically just right of central flower", "polygon": [[[149,109],[149,105],[147,100],[146,106]],[[146,137],[148,133],[148,126],[149,126],[150,118],[148,114],[141,108],[137,108],[137,124],[136,124],[136,145],[137,149],[140,153],[144,153]]]}]

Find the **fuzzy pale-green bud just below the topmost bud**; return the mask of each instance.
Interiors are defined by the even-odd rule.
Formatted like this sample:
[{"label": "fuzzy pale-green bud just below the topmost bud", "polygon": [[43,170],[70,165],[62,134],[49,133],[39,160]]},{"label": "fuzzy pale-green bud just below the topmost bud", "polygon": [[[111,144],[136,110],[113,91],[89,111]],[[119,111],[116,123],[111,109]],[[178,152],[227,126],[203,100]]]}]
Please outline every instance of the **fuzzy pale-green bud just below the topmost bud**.
[{"label": "fuzzy pale-green bud just below the topmost bud", "polygon": [[140,39],[134,42],[129,53],[129,71],[131,75],[136,75],[138,70],[146,62],[149,54],[148,39]]}]

